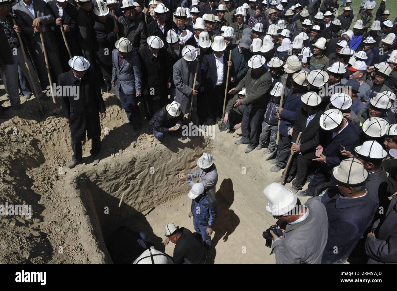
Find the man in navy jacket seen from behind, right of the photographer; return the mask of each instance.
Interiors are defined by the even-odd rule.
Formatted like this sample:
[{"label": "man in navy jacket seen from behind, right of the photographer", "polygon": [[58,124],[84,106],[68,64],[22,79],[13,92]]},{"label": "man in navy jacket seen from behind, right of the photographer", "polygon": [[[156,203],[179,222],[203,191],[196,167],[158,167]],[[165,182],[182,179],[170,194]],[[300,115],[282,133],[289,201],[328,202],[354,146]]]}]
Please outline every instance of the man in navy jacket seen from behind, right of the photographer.
[{"label": "man in navy jacket seen from behind, right of the photographer", "polygon": [[343,264],[372,223],[379,204],[376,195],[366,190],[368,172],[358,159],[341,161],[332,175],[337,188],[330,188],[321,198],[330,222],[321,262]]}]

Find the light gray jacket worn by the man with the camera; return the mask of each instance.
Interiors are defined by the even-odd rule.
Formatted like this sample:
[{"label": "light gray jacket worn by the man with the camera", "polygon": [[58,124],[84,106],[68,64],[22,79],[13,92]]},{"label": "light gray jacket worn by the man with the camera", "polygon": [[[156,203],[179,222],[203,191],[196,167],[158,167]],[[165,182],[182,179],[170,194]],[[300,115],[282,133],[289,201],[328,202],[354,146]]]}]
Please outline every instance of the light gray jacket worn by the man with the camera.
[{"label": "light gray jacket worn by the man with the camera", "polygon": [[304,206],[308,217],[297,224],[287,224],[282,239],[272,244],[276,264],[320,264],[328,239],[328,216],[325,206],[310,198]]}]

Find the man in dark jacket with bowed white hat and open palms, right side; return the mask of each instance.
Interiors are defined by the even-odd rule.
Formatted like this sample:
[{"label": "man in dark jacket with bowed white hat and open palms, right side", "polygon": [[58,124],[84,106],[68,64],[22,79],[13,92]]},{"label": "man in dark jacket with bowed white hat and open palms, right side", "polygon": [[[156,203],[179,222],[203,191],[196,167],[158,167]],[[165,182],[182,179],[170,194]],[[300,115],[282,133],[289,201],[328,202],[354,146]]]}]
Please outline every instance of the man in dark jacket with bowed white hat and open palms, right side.
[{"label": "man in dark jacket with bowed white hat and open palms, right side", "polygon": [[316,147],[316,159],[320,162],[320,168],[310,181],[308,188],[299,191],[298,196],[312,196],[314,189],[321,182],[331,182],[332,168],[341,162],[340,151],[345,149],[352,151],[360,142],[358,130],[343,117],[339,109],[328,109],[320,117],[320,127],[325,134]]}]

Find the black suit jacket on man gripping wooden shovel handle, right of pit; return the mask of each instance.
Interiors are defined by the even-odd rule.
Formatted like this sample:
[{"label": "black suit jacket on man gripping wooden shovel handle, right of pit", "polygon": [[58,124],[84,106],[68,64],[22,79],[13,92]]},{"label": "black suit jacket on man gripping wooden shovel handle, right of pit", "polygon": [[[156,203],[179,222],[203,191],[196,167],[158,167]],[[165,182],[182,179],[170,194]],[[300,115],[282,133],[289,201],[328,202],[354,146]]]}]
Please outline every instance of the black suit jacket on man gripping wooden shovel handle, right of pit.
[{"label": "black suit jacket on man gripping wooden shovel handle, right of pit", "polygon": [[303,108],[299,110],[297,120],[294,123],[294,130],[292,133],[292,142],[296,142],[299,132],[301,135],[301,153],[306,159],[316,158],[316,147],[320,144],[319,131],[320,131],[320,116],[323,111],[318,110],[316,116],[306,126],[308,113]]}]

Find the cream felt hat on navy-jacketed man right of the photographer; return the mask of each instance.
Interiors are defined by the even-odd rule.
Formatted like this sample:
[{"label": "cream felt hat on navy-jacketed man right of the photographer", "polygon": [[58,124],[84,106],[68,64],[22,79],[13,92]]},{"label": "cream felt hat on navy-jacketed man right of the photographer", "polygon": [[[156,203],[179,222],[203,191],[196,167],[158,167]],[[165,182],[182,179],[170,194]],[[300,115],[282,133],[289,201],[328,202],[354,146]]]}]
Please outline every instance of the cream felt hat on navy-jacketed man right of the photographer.
[{"label": "cream felt hat on navy-jacketed man right of the photographer", "polygon": [[333,167],[332,175],[338,182],[355,186],[365,182],[368,171],[358,159],[351,158],[345,159],[338,166]]}]

